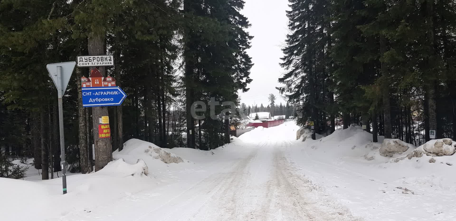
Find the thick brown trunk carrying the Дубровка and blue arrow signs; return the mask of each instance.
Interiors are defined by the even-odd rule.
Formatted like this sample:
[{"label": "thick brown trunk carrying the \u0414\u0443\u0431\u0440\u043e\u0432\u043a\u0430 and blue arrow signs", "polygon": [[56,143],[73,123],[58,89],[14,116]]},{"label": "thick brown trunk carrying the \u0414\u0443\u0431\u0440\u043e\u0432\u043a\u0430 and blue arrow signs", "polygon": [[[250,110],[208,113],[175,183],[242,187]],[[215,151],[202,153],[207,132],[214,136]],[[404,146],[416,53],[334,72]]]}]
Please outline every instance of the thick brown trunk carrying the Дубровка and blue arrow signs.
[{"label": "thick brown trunk carrying the \u0414\u0443\u0431\u0440\u043e\u0432\u043a\u0430 and blue arrow signs", "polygon": [[[89,55],[104,55],[104,35],[89,34],[88,37],[88,54]],[[105,76],[105,68],[100,67],[100,73]],[[112,146],[110,138],[98,137],[99,119],[102,116],[108,116],[108,107],[93,107],[92,122],[93,122],[93,143],[95,144],[95,171],[103,169],[109,162],[113,160]]]}]

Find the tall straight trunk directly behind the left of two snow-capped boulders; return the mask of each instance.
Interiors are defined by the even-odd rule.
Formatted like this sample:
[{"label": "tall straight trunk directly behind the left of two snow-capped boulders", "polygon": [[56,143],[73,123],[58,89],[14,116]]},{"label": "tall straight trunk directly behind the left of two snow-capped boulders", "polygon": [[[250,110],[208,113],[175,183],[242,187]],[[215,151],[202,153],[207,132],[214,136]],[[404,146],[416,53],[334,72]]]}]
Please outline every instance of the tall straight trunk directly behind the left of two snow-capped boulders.
[{"label": "tall straight trunk directly behind the left of two snow-capped boulders", "polygon": [[[387,51],[387,43],[384,36],[380,36],[380,54],[383,57]],[[382,92],[383,92],[383,124],[384,124],[384,135],[385,138],[391,138],[393,132],[393,124],[391,121],[391,102],[390,102],[390,93],[389,93],[389,71],[388,66],[385,61],[381,61],[381,72],[384,77]]]}]

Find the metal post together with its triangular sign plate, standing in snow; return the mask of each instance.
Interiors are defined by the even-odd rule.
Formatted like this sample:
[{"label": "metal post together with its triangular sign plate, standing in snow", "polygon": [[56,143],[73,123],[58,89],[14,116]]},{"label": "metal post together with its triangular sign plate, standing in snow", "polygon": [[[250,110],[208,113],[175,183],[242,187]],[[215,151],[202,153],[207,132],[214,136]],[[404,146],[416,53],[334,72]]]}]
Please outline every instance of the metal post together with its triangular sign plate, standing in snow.
[{"label": "metal post together with its triangular sign plate, standing in snow", "polygon": [[62,191],[67,193],[67,162],[65,161],[65,138],[63,133],[63,102],[62,98],[67,90],[68,81],[73,74],[76,62],[63,62],[46,65],[47,71],[56,85],[58,98],[58,117],[60,126],[60,157],[62,161]]}]

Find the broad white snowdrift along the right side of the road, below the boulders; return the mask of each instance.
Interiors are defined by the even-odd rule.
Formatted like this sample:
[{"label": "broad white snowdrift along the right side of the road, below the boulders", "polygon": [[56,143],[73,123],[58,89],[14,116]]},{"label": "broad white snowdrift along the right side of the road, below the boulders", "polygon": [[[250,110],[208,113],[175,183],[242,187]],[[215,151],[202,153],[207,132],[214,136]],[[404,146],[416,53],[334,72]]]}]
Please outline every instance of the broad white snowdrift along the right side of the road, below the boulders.
[{"label": "broad white snowdrift along the right side of the road, below the boulders", "polygon": [[385,157],[379,151],[383,137],[378,141],[350,126],[319,140],[293,141],[290,159],[353,215],[373,221],[456,220],[455,167],[449,166],[456,154],[415,157],[423,146],[408,146],[402,154]]}]

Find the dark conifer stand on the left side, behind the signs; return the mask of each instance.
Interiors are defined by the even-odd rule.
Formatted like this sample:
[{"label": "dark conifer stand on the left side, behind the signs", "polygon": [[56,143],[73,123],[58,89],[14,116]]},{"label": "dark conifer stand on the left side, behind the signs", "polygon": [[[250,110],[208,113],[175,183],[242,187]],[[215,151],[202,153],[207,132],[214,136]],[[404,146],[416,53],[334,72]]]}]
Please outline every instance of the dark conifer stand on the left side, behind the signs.
[{"label": "dark conifer stand on the left side, behind the signs", "polygon": [[[114,55],[114,66],[99,70],[128,96],[121,106],[83,108],[80,79],[91,70],[75,68],[63,98],[70,171],[103,168],[131,138],[202,150],[229,142],[229,120],[197,122],[190,108],[211,97],[238,104],[238,91],[249,90],[243,7],[242,0],[0,0],[0,158],[34,157],[43,179],[60,171],[57,93],[46,64],[78,55]],[[111,139],[98,138],[101,116],[109,116]]]}]

